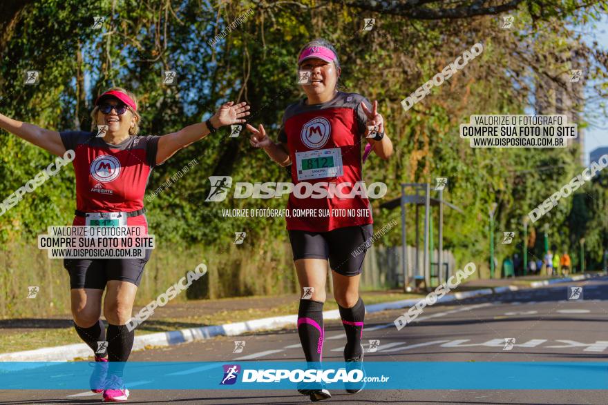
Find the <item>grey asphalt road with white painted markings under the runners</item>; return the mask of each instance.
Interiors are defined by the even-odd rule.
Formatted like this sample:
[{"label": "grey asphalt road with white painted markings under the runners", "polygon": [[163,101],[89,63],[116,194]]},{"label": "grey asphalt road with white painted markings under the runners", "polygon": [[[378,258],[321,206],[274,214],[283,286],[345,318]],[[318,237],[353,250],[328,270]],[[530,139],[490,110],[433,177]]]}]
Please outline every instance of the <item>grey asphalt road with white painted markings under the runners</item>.
[{"label": "grey asphalt road with white painted markings under the runners", "polygon": [[[582,286],[582,299],[567,299],[568,286]],[[491,297],[427,307],[418,322],[397,330],[403,310],[368,315],[364,346],[379,340],[366,362],[605,362],[608,357],[608,277],[555,284]],[[325,324],[325,361],[341,361],[341,324]],[[515,338],[511,350],[504,339]],[[245,341],[233,353],[234,341]],[[295,330],[218,337],[144,350],[133,361],[301,361]],[[348,404],[608,404],[600,390],[368,390],[332,391],[326,402]],[[0,404],[93,404],[101,395],[78,391],[0,391]],[[153,391],[131,387],[132,404],[305,404],[292,391]]]}]

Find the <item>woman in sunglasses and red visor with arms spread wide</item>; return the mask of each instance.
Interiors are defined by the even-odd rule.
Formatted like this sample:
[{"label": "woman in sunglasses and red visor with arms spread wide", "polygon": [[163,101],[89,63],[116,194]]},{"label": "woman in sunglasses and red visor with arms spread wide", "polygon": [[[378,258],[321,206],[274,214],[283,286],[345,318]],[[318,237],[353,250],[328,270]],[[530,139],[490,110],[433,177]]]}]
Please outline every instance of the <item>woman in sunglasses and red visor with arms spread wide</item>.
[{"label": "woman in sunglasses and red visor with arms spread wide", "polygon": [[[151,170],[167,161],[175,152],[216,132],[220,126],[245,122],[249,115],[246,103],[225,103],[205,123],[187,126],[162,137],[137,136],[140,114],[133,93],[122,88],[111,88],[95,102],[91,113],[93,132],[56,132],[39,128],[0,114],[0,128],[47,150],[63,156],[73,150],[76,174],[76,217],[73,226],[144,226],[147,221],[144,193]],[[105,135],[98,126],[106,126]],[[124,362],[133,348],[134,330],[127,322],[144,259],[64,259],[70,274],[72,314],[79,337],[93,349],[95,368],[91,389],[104,392],[104,402],[123,402],[129,397],[122,373]],[[108,322],[106,333],[99,319],[102,312]],[[99,350],[98,342],[107,342],[106,350]],[[101,353],[103,352],[104,353]]]}]

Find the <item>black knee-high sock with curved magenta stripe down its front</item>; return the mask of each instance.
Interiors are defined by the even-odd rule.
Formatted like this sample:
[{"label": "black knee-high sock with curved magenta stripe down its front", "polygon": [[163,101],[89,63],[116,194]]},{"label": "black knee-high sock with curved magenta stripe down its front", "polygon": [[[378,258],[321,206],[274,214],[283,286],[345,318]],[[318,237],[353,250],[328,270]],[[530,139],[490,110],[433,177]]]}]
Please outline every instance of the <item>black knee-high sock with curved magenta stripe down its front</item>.
[{"label": "black knee-high sock with curved magenta stripe down its front", "polygon": [[298,335],[307,362],[323,359],[323,302],[301,299],[298,310]]}]

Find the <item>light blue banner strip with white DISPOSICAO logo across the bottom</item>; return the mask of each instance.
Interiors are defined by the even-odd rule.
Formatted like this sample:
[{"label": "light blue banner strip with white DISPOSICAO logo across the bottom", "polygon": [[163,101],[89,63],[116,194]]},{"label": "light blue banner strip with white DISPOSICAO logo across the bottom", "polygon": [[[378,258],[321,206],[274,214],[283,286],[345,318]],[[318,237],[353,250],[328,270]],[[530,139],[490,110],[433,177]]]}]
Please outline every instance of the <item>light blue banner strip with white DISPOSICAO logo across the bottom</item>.
[{"label": "light blue banner strip with white DISPOSICAO logo across the bottom", "polygon": [[608,389],[607,362],[3,362],[0,390],[88,389],[120,373],[126,388],[142,390]]}]

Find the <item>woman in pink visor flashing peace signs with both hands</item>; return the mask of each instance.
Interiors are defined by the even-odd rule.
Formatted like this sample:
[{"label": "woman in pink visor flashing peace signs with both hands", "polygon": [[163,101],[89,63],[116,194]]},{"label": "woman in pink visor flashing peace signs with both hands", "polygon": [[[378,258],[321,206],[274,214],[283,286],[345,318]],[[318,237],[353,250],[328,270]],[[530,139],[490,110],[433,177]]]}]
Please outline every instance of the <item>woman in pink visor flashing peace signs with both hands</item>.
[{"label": "woman in pink visor flashing peace signs with both hands", "polygon": [[[365,252],[357,255],[356,250],[367,246],[373,221],[367,197],[352,191],[363,179],[361,166],[367,153],[373,150],[388,159],[392,144],[384,133],[383,118],[377,113],[377,101],[372,106],[357,93],[337,90],[341,68],[331,43],[324,39],[307,43],[298,57],[298,69],[310,71],[310,81],[302,86],[307,97],[285,110],[278,143],[267,137],[262,125],[257,129],[247,125],[247,129],[252,132],[251,146],[263,148],[281,166],[292,166],[294,192],[289,195],[289,213],[305,209],[330,213],[328,217],[286,218],[298,281],[307,292],[300,299],[298,310],[298,335],[306,361],[319,365],[323,357],[323,303],[329,259],[334,298],[346,332],[344,359],[350,366],[361,368],[365,306],[359,297],[359,279]],[[305,189],[298,187],[303,182],[324,182],[328,189],[332,183],[350,186],[336,186],[336,194],[341,195],[328,192],[327,198],[312,198],[310,193],[306,197],[305,192],[298,192],[298,188]],[[356,217],[340,215],[353,209]],[[362,388],[362,383],[346,386],[349,393]],[[298,391],[310,395],[312,401],[331,397],[319,384],[301,384]]]}]

